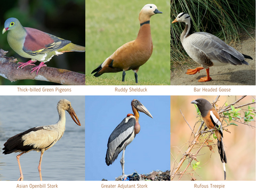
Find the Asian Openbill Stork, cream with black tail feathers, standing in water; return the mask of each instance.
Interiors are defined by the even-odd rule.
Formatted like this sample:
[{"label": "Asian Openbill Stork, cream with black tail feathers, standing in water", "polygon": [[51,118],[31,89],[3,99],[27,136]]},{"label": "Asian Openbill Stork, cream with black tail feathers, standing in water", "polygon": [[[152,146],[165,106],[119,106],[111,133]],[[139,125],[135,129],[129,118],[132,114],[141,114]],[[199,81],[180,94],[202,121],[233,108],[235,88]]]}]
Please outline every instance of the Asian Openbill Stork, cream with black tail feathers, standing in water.
[{"label": "Asian Openbill Stork, cream with black tail feathers, standing in water", "polygon": [[20,165],[20,156],[35,150],[41,151],[41,156],[38,165],[38,172],[40,180],[42,181],[41,163],[44,151],[51,148],[60,138],[65,131],[66,116],[65,110],[68,111],[73,121],[81,126],[79,119],[71,106],[70,101],[61,99],[57,104],[57,110],[59,114],[59,121],[52,125],[44,125],[33,127],[25,132],[14,135],[4,143],[3,154],[11,154],[21,152],[17,155],[17,161],[20,169],[20,178],[18,181],[23,181],[23,174]]}]

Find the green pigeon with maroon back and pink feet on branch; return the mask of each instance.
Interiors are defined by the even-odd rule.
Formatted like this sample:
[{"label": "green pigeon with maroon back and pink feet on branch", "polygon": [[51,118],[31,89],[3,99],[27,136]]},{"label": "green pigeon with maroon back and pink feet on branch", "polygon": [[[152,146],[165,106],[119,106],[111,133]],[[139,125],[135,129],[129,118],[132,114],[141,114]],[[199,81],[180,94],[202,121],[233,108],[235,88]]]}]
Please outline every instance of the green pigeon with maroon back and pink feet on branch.
[{"label": "green pigeon with maroon back and pink feet on branch", "polygon": [[28,65],[35,65],[34,62],[41,61],[38,66],[31,69],[30,74],[36,70],[38,74],[44,63],[50,61],[54,55],[65,52],[85,52],[85,47],[71,43],[71,41],[56,37],[43,31],[23,27],[16,18],[9,18],[4,23],[3,34],[7,34],[7,42],[10,47],[21,57],[30,58],[27,62],[18,62],[21,64],[17,69]]}]

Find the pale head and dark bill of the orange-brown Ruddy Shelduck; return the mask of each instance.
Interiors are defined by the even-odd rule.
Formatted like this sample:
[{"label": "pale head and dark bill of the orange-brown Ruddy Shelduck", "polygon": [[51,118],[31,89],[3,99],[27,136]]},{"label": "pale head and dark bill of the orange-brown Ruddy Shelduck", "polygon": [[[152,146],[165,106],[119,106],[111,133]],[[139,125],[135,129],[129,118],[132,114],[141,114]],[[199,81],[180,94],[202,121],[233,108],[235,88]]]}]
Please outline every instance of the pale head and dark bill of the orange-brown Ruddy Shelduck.
[{"label": "pale head and dark bill of the orange-brown Ruddy Shelduck", "polygon": [[161,11],[158,11],[156,5],[154,4],[147,4],[143,6],[143,8],[140,11],[139,14],[139,21],[140,22],[145,22],[150,20],[151,16],[157,13],[163,13]]}]

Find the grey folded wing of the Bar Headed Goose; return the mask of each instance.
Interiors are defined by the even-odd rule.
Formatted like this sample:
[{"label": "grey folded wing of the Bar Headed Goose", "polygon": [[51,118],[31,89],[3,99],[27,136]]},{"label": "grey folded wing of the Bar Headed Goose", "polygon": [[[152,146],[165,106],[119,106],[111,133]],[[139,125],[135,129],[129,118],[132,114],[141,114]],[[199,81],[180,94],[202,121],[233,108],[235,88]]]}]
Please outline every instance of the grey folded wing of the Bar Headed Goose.
[{"label": "grey folded wing of the Bar Headed Goose", "polygon": [[204,53],[211,60],[219,60],[222,63],[230,63],[231,65],[249,65],[244,61],[242,53],[212,34],[204,32],[194,33],[190,43],[197,52]]}]

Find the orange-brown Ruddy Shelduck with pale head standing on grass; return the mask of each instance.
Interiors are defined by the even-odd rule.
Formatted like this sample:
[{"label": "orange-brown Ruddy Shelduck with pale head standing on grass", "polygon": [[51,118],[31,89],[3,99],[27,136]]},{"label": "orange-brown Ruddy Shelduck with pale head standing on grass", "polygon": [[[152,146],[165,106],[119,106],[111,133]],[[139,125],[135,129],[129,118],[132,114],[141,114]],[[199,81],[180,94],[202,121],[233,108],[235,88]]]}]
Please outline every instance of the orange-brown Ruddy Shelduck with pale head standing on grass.
[{"label": "orange-brown Ruddy Shelduck with pale head standing on grass", "polygon": [[111,54],[91,74],[99,77],[104,73],[117,73],[123,71],[122,82],[124,82],[125,71],[133,70],[135,83],[138,83],[138,70],[151,57],[153,43],[150,32],[151,16],[163,13],[157,10],[156,5],[147,4],[143,6],[139,14],[140,30],[134,41],[125,43]]}]

